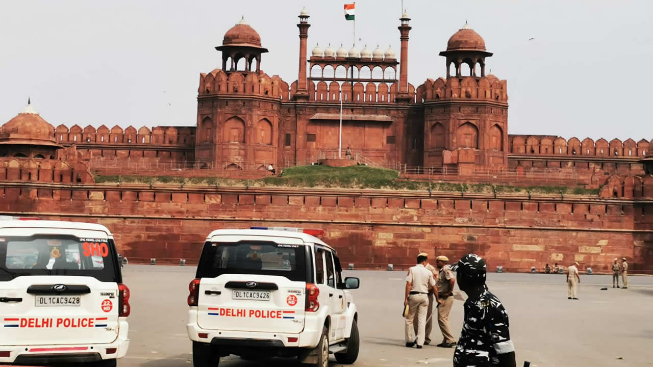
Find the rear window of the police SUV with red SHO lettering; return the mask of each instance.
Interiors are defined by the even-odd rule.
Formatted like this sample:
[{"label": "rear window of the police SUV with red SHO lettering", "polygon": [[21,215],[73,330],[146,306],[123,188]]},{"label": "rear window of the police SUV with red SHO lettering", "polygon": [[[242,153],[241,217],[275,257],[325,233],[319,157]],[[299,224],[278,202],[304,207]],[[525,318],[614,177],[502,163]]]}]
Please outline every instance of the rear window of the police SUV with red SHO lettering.
[{"label": "rear window of the police SUV with red SHO lettering", "polygon": [[73,236],[0,238],[0,281],[18,276],[92,276],[122,281],[113,240]]}]

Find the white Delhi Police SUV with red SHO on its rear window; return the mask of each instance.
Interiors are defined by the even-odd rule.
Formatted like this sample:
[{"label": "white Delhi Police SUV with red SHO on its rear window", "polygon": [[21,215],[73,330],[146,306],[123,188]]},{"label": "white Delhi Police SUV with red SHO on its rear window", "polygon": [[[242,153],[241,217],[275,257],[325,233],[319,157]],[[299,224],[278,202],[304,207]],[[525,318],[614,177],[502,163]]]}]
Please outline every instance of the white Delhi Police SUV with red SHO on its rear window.
[{"label": "white Delhi Police SUV with red SHO on its rear window", "polygon": [[12,219],[0,220],[0,364],[116,366],[130,310],[111,232]]}]

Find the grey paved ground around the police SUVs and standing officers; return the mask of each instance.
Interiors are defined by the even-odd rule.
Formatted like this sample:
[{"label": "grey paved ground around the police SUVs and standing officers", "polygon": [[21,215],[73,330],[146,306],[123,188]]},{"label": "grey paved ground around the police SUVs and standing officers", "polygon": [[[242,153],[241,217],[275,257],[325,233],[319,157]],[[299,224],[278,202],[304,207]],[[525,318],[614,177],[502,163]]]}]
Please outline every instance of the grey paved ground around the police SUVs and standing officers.
[{"label": "grey paved ground around the police SUVs and standing officers", "polygon": [[[362,343],[356,366],[451,366],[453,349],[404,347],[405,272],[345,272],[361,279],[353,291]],[[193,266],[129,265],[131,347],[119,366],[177,367],[191,363],[185,332],[186,296]],[[488,274],[490,289],[510,316],[517,365],[653,366],[653,277],[629,277],[629,289],[612,289],[610,276],[581,276],[580,300],[567,300],[564,275]],[[607,291],[599,289],[609,285]],[[454,335],[462,327],[464,294],[451,312]],[[433,340],[441,338],[437,321]],[[221,360],[221,367],[296,366],[294,360]],[[340,366],[333,360],[332,366]]]}]

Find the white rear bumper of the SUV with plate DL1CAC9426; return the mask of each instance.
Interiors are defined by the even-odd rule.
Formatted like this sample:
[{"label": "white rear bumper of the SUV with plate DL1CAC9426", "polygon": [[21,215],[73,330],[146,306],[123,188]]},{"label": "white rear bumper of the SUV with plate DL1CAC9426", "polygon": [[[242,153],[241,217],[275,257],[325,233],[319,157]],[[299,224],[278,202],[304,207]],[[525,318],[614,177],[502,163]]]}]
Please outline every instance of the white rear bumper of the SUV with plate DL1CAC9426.
[{"label": "white rear bumper of the SUV with plate DL1CAC9426", "polygon": [[[319,342],[322,328],[319,328],[317,338],[314,330],[304,326],[304,331],[298,334],[289,334],[283,332],[252,332],[236,330],[215,330],[204,329],[197,325],[197,310],[188,311],[189,322],[186,325],[188,337],[193,342],[211,343],[220,345],[225,349],[238,349],[240,347],[263,347],[270,349],[283,348],[313,348]],[[199,334],[206,334],[206,338],[200,338]],[[289,338],[296,338],[296,342],[289,342]],[[236,353],[231,353],[236,354]]]}]

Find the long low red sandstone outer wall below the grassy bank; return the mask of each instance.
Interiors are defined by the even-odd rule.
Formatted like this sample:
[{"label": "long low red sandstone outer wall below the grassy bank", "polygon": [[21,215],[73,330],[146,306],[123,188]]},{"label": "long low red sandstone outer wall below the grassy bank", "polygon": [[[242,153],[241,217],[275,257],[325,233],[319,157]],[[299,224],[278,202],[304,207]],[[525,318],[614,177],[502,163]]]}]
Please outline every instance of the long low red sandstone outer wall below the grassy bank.
[{"label": "long low red sandstone outer wall below the grassy bank", "polygon": [[473,251],[512,271],[573,261],[604,271],[625,256],[633,272],[653,272],[653,200],[46,183],[6,183],[0,197],[6,214],[106,225],[133,261],[193,261],[214,229],[268,225],[325,229],[359,268],[407,266],[419,250]]}]

